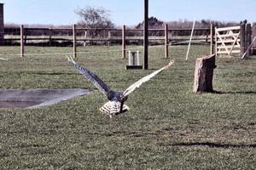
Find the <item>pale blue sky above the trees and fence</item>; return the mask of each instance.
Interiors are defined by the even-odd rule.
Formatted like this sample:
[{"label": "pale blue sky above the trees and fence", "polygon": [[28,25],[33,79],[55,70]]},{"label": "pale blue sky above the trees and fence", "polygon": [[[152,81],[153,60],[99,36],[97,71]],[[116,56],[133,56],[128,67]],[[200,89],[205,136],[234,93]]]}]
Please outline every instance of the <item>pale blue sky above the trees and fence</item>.
[{"label": "pale blue sky above the trees and fence", "polygon": [[[256,0],[148,0],[149,16],[162,21],[256,21]],[[77,8],[103,7],[116,26],[134,26],[143,20],[144,0],[0,0],[4,22],[70,25],[79,21]],[[241,5],[242,4],[242,5]]]}]

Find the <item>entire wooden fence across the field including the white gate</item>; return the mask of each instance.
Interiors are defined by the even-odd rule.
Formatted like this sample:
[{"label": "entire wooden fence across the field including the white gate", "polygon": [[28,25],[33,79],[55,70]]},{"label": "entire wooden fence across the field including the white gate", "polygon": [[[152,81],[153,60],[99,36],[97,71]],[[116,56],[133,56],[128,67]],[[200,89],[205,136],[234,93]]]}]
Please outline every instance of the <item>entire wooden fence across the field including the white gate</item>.
[{"label": "entire wooden fence across the field including the white gate", "polygon": [[[252,31],[250,24],[233,26],[227,28],[195,28],[193,41],[211,43],[211,54],[244,54],[252,42]],[[197,32],[196,32],[197,31]],[[149,43],[165,46],[165,57],[168,58],[168,47],[170,44],[183,44],[189,40],[191,29],[173,29],[166,25],[162,29],[149,29]],[[5,28],[4,42],[20,45],[20,56],[24,56],[26,45],[35,42],[37,45],[55,46],[60,43],[63,46],[73,46],[73,56],[76,57],[77,47],[90,43],[110,45],[112,43],[122,44],[122,57],[126,55],[127,44],[138,44],[143,42],[143,29],[130,29],[122,26],[116,28],[78,28],[73,25],[70,28]],[[38,44],[38,42],[44,44]],[[2,43],[1,43],[2,44]],[[4,44],[4,43],[3,43]],[[253,53],[249,50],[247,55]]]}]

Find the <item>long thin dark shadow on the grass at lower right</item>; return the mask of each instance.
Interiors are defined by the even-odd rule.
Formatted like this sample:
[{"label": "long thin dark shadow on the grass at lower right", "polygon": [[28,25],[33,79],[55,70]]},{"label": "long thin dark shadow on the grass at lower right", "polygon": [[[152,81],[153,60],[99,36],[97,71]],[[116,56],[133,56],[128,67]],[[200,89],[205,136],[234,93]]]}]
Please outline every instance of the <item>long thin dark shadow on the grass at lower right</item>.
[{"label": "long thin dark shadow on the grass at lower right", "polygon": [[172,146],[208,146],[211,148],[256,148],[256,144],[218,144],[212,142],[178,143]]}]

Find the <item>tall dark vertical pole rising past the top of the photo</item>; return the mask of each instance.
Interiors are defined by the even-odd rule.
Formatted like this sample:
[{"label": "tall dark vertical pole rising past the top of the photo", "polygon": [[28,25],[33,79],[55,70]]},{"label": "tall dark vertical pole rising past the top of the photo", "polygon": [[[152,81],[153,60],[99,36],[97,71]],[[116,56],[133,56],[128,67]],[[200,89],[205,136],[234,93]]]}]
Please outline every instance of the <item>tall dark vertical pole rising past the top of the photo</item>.
[{"label": "tall dark vertical pole rising past the top of the photo", "polygon": [[144,70],[148,70],[148,0],[144,0]]}]

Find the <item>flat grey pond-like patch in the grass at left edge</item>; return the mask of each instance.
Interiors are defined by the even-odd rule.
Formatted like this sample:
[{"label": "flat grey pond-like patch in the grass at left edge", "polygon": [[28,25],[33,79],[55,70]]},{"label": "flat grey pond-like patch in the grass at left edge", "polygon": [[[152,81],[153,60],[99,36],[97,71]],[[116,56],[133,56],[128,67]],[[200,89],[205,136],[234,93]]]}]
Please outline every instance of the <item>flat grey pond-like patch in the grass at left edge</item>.
[{"label": "flat grey pond-like patch in the grass at left edge", "polygon": [[87,89],[0,89],[0,109],[36,109],[90,94]]}]

